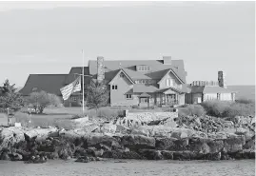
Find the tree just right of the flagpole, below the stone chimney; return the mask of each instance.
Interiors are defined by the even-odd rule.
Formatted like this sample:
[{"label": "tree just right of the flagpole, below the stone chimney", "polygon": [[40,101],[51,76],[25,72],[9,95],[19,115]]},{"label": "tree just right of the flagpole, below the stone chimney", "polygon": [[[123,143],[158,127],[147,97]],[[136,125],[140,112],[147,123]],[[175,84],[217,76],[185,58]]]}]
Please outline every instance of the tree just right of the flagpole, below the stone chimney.
[{"label": "tree just right of the flagpole, below the stone chimney", "polygon": [[87,106],[89,108],[100,108],[108,105],[109,91],[104,82],[90,81],[89,87],[86,89]]}]

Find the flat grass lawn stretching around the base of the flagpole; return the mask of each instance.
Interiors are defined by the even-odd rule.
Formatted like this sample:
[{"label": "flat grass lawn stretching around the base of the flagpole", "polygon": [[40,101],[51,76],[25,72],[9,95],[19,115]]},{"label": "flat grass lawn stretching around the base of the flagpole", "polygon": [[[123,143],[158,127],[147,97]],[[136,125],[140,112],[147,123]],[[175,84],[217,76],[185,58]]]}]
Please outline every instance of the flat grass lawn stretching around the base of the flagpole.
[{"label": "flat grass lawn stretching around the base of the flagpole", "polygon": [[[85,108],[85,114],[89,118],[102,118],[111,120],[124,114],[124,110],[129,112],[163,112],[169,111],[170,108],[112,108],[103,107],[96,109]],[[71,119],[74,115],[82,114],[82,108],[45,108],[43,114],[31,114],[27,112],[27,108],[22,108],[15,113],[15,122],[21,123],[24,127],[64,127],[66,129],[73,128],[74,124]],[[30,123],[29,123],[30,120]]]}]

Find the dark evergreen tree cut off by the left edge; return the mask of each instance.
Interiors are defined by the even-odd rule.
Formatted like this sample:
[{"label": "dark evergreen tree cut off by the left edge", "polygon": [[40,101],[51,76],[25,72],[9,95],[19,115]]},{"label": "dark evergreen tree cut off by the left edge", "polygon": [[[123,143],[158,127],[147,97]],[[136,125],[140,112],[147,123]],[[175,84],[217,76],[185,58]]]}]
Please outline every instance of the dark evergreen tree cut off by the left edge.
[{"label": "dark evergreen tree cut off by the left edge", "polygon": [[18,110],[24,105],[24,100],[19,92],[16,91],[15,84],[10,85],[7,79],[3,87],[0,87],[0,108],[6,111],[7,108]]}]

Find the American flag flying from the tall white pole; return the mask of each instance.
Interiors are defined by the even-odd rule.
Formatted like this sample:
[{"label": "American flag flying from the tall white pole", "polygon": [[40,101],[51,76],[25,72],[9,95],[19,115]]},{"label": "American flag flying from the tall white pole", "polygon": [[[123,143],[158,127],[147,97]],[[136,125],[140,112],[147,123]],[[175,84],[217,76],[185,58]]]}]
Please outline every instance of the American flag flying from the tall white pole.
[{"label": "American flag flying from the tall white pole", "polygon": [[81,90],[81,76],[79,76],[76,80],[74,80],[72,83],[69,85],[60,88],[61,94],[63,96],[63,100],[68,100],[69,96],[76,91]]}]

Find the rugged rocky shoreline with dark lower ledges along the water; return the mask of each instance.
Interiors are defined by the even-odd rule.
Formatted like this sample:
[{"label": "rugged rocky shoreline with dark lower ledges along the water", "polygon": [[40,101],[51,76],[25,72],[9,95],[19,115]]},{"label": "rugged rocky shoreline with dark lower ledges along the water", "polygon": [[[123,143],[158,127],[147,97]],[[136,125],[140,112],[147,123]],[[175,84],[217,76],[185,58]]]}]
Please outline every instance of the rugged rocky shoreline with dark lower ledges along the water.
[{"label": "rugged rocky shoreline with dark lower ledges along the water", "polygon": [[51,128],[3,127],[0,160],[45,163],[52,159],[88,163],[105,158],[137,160],[230,160],[255,158],[255,134],[207,138],[183,135],[79,133]]}]

